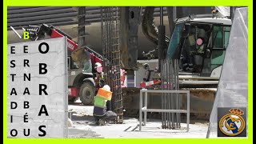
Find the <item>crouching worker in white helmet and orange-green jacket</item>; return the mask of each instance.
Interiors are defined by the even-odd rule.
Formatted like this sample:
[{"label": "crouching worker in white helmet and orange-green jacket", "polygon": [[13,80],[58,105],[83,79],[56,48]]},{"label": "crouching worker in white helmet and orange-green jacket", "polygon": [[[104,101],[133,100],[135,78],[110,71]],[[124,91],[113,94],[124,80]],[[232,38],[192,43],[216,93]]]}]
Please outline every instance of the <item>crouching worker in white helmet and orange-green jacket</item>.
[{"label": "crouching worker in white helmet and orange-green jacket", "polygon": [[110,86],[105,85],[98,90],[98,94],[94,98],[95,125],[104,126],[106,122],[113,121],[117,117],[117,114],[110,109],[111,98]]}]

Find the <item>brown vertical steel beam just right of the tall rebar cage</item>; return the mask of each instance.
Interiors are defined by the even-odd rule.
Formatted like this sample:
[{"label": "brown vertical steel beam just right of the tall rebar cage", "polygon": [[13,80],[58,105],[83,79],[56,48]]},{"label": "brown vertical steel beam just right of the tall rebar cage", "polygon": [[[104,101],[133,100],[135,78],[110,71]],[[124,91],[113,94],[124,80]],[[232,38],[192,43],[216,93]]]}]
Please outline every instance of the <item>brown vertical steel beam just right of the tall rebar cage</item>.
[{"label": "brown vertical steel beam just right of the tall rebar cage", "polygon": [[138,70],[138,25],[141,7],[120,7],[121,67]]}]

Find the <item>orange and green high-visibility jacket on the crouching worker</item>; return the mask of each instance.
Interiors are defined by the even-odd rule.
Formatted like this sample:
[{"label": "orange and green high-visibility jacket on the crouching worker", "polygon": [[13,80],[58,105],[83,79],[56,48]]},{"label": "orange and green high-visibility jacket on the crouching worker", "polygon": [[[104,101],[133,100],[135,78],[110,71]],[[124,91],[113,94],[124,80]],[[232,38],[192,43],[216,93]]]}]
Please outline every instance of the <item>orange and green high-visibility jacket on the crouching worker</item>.
[{"label": "orange and green high-visibility jacket on the crouching worker", "polygon": [[112,92],[100,88],[94,98],[94,116],[103,116],[106,114],[106,102],[111,100]]}]

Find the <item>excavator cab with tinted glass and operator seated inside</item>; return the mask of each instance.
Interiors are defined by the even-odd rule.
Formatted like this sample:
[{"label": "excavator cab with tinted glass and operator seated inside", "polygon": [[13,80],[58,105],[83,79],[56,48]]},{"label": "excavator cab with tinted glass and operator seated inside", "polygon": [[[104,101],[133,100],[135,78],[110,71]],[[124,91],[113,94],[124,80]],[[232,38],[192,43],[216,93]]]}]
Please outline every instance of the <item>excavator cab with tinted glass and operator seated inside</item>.
[{"label": "excavator cab with tinted glass and operator seated inside", "polygon": [[230,26],[226,18],[182,18],[176,22],[167,58],[179,60],[180,73],[212,75],[222,66]]}]

